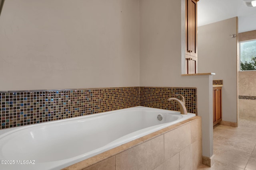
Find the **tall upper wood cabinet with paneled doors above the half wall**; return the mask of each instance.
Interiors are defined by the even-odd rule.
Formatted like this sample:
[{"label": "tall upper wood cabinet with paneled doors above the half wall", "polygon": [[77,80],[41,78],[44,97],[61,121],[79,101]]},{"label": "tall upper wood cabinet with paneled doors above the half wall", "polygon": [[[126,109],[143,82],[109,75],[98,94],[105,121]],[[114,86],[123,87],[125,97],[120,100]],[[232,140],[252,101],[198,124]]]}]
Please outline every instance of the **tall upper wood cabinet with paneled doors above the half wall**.
[{"label": "tall upper wood cabinet with paneled doors above the half wall", "polygon": [[197,72],[197,2],[199,0],[185,0],[186,2],[186,74]]}]

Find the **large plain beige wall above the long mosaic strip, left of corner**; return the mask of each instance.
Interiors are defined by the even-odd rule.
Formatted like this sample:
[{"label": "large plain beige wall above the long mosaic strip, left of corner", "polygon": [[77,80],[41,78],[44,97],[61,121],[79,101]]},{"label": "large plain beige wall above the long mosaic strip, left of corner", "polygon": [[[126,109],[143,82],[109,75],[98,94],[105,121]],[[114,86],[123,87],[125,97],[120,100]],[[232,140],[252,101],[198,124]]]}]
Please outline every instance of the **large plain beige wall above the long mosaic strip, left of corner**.
[{"label": "large plain beige wall above the long mosaic strip, left of corner", "polygon": [[138,0],[7,0],[0,90],[139,86]]}]

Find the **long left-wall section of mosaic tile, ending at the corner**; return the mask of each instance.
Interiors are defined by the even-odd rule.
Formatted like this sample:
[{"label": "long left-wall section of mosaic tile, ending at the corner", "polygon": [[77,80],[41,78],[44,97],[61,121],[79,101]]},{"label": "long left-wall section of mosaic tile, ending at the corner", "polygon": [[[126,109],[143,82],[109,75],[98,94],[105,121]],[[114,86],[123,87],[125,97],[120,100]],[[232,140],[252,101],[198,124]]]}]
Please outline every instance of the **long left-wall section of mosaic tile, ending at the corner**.
[{"label": "long left-wall section of mosaic tile, ending at the corner", "polygon": [[139,106],[139,87],[0,92],[0,129]]}]

